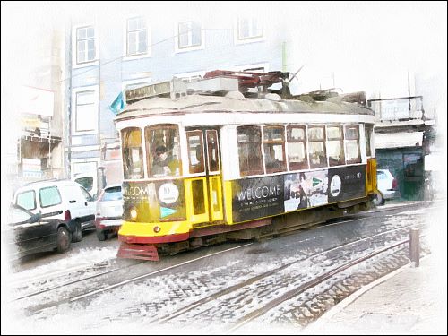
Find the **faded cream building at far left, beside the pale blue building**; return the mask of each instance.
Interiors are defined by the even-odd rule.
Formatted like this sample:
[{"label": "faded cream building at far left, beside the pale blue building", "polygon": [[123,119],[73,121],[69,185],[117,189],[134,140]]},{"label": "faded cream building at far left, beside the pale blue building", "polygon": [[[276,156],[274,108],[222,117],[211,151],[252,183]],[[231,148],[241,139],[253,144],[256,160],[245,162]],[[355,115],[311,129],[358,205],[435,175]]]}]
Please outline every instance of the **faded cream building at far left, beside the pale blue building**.
[{"label": "faded cream building at far left, beside the pale blue building", "polygon": [[8,63],[16,73],[5,83],[5,113],[11,116],[2,121],[11,132],[7,140],[15,142],[3,163],[11,192],[29,182],[65,177],[64,35],[64,29],[51,25],[31,30],[28,39],[39,44],[29,43],[24,56]]}]

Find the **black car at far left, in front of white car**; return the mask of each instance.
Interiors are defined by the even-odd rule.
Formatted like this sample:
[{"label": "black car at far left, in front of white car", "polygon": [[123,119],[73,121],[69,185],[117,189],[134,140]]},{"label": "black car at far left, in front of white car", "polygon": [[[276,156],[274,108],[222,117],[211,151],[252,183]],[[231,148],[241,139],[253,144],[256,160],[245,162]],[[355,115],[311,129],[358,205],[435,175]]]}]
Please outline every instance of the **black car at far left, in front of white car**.
[{"label": "black car at far left, in front of white car", "polygon": [[8,215],[3,233],[13,260],[48,250],[64,253],[70,248],[73,223],[44,218],[16,204],[10,207]]}]

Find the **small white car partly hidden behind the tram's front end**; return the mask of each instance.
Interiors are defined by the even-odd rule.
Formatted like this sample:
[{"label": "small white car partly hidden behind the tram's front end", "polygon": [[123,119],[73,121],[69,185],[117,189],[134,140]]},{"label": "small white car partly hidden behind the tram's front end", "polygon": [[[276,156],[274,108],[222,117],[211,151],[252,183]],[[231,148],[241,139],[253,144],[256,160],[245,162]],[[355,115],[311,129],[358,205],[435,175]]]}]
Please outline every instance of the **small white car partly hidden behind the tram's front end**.
[{"label": "small white car partly hidden behind the tram's front end", "polygon": [[106,240],[108,234],[115,234],[121,227],[123,215],[123,194],[121,185],[106,186],[97,201],[95,228],[100,241]]}]

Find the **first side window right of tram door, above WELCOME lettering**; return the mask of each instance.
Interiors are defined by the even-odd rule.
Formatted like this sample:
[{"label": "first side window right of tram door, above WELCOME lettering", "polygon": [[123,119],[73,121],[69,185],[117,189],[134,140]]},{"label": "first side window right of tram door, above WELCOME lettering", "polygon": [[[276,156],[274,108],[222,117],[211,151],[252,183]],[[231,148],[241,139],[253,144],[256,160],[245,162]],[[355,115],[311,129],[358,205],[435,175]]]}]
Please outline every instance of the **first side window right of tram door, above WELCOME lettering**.
[{"label": "first side window right of tram door, above WELCOME lettering", "polygon": [[238,126],[240,176],[263,174],[262,131],[259,126]]}]

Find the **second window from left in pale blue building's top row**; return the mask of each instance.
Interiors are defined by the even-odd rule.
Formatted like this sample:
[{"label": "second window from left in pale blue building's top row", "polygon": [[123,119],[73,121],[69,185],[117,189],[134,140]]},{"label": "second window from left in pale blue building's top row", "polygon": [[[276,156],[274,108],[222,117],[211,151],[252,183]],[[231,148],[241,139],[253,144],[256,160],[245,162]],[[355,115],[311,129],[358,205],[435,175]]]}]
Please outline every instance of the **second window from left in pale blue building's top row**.
[{"label": "second window from left in pale blue building's top row", "polygon": [[126,56],[148,53],[149,31],[142,17],[132,18],[126,23]]}]

